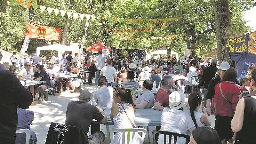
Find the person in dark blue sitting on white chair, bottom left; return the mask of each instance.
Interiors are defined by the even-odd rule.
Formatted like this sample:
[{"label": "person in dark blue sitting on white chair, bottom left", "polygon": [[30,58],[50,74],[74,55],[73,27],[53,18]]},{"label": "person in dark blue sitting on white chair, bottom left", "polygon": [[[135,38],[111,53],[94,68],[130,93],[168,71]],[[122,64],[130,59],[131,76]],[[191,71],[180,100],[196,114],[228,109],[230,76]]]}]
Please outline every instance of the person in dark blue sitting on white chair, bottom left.
[{"label": "person in dark blue sitting on white chair, bottom left", "polygon": [[[17,130],[28,129],[30,130],[30,125],[34,120],[34,112],[27,109],[18,108],[18,125]],[[16,134],[16,144],[24,144],[26,141],[25,133]],[[36,144],[36,133],[30,130],[29,144]]]}]

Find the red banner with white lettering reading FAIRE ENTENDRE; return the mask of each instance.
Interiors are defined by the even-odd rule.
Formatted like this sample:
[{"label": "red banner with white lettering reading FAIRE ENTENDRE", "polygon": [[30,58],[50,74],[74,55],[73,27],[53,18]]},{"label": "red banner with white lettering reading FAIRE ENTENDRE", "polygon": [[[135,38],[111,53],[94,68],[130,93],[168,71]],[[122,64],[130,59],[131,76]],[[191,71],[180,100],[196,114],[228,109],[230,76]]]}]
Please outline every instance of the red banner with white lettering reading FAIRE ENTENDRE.
[{"label": "red banner with white lettering reading FAIRE ENTENDRE", "polygon": [[60,40],[60,28],[46,27],[27,22],[26,35],[45,40]]}]

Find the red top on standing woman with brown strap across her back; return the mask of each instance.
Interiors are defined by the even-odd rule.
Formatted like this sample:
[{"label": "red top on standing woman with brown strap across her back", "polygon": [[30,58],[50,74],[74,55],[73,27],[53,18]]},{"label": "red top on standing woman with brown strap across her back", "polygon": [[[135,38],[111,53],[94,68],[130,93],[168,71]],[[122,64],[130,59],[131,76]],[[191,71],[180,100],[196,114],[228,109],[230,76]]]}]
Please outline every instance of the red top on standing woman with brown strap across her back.
[{"label": "red top on standing woman with brown strap across her back", "polygon": [[[223,98],[220,93],[220,83],[215,86],[215,94],[212,99],[213,109],[215,114],[220,116],[230,116],[233,117],[235,114],[236,105],[239,100],[240,89],[232,83],[221,82],[221,89],[225,97],[229,102],[232,103],[232,107],[228,104],[228,101]],[[216,106],[216,107],[215,107]]]}]

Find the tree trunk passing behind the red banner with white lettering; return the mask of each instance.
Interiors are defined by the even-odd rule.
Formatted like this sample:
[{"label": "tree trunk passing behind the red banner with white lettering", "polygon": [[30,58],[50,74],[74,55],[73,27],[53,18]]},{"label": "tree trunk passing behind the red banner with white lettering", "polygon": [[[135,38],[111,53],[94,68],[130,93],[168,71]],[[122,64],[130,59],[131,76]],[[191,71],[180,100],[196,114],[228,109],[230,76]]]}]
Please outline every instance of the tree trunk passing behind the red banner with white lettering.
[{"label": "tree trunk passing behind the red banner with white lettering", "polygon": [[[39,1],[37,1],[37,4],[40,4]],[[38,9],[37,9],[37,10],[38,10]],[[28,22],[31,22],[31,20],[33,19],[35,13],[36,13],[36,11],[34,12],[34,8],[33,8],[33,6],[31,5],[30,8],[29,8]],[[30,42],[30,37],[25,36],[24,41],[23,41],[23,44],[22,44],[21,49],[20,49],[21,55],[25,54],[25,52],[28,50],[29,42]]]}]

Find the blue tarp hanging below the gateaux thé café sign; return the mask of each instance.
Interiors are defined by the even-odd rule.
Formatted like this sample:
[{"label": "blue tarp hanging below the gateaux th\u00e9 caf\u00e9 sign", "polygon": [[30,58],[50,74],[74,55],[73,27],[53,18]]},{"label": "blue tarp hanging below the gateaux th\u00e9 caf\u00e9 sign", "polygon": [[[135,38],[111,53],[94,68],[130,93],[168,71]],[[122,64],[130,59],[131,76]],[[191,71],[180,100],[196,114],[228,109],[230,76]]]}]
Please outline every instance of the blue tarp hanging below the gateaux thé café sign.
[{"label": "blue tarp hanging below the gateaux th\u00e9 caf\u00e9 sign", "polygon": [[238,81],[247,75],[247,70],[252,63],[256,64],[256,54],[254,53],[232,53],[231,59],[236,61]]}]

